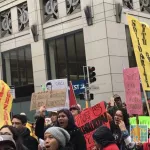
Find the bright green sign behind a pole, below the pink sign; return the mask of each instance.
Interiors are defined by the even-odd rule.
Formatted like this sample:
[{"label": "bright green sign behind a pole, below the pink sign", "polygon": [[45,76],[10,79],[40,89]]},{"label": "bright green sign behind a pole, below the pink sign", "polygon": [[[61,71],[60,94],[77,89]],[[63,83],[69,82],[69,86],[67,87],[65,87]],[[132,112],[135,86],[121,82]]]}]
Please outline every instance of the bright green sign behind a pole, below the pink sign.
[{"label": "bright green sign behind a pole, below the pink sign", "polygon": [[[147,125],[150,129],[150,117],[149,116],[139,116],[139,124]],[[136,124],[136,117],[130,118],[130,125]]]}]

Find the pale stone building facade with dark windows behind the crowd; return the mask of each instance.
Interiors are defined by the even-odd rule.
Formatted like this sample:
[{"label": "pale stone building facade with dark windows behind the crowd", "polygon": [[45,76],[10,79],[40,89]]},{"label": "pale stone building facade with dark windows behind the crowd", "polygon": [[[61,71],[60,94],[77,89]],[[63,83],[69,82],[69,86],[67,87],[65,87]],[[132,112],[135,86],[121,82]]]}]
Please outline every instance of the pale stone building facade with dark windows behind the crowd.
[{"label": "pale stone building facade with dark windows behind the crowd", "polygon": [[145,0],[0,0],[0,78],[15,86],[13,112],[49,79],[83,79],[96,68],[94,105],[125,99],[123,69],[136,66],[126,14],[150,24]]}]

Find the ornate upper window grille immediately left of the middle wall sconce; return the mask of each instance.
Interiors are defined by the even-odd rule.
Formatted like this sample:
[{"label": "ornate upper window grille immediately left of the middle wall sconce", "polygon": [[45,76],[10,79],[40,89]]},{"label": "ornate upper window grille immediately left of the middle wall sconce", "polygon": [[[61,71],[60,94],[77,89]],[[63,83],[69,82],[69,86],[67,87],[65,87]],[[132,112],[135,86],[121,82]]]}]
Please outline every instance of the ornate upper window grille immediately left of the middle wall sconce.
[{"label": "ornate upper window grille immediately left of the middle wall sconce", "polygon": [[81,11],[80,0],[66,0],[67,14],[74,14]]}]

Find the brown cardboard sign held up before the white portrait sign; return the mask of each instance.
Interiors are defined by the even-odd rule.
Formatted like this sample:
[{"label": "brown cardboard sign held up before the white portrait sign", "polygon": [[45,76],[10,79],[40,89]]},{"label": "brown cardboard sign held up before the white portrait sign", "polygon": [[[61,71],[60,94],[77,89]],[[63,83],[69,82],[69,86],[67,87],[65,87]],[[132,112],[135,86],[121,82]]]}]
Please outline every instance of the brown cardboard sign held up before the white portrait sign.
[{"label": "brown cardboard sign held up before the white portrait sign", "polygon": [[66,89],[33,93],[30,110],[38,110],[41,106],[46,108],[64,107],[66,103]]}]

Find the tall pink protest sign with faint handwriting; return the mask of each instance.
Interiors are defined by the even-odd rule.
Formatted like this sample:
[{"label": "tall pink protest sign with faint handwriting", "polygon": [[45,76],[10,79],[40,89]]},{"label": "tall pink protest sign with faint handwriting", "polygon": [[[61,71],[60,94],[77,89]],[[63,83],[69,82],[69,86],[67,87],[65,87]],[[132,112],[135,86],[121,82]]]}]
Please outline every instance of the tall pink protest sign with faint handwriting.
[{"label": "tall pink protest sign with faint handwriting", "polygon": [[130,115],[141,115],[143,114],[143,105],[138,68],[124,69],[123,76],[127,111]]}]

